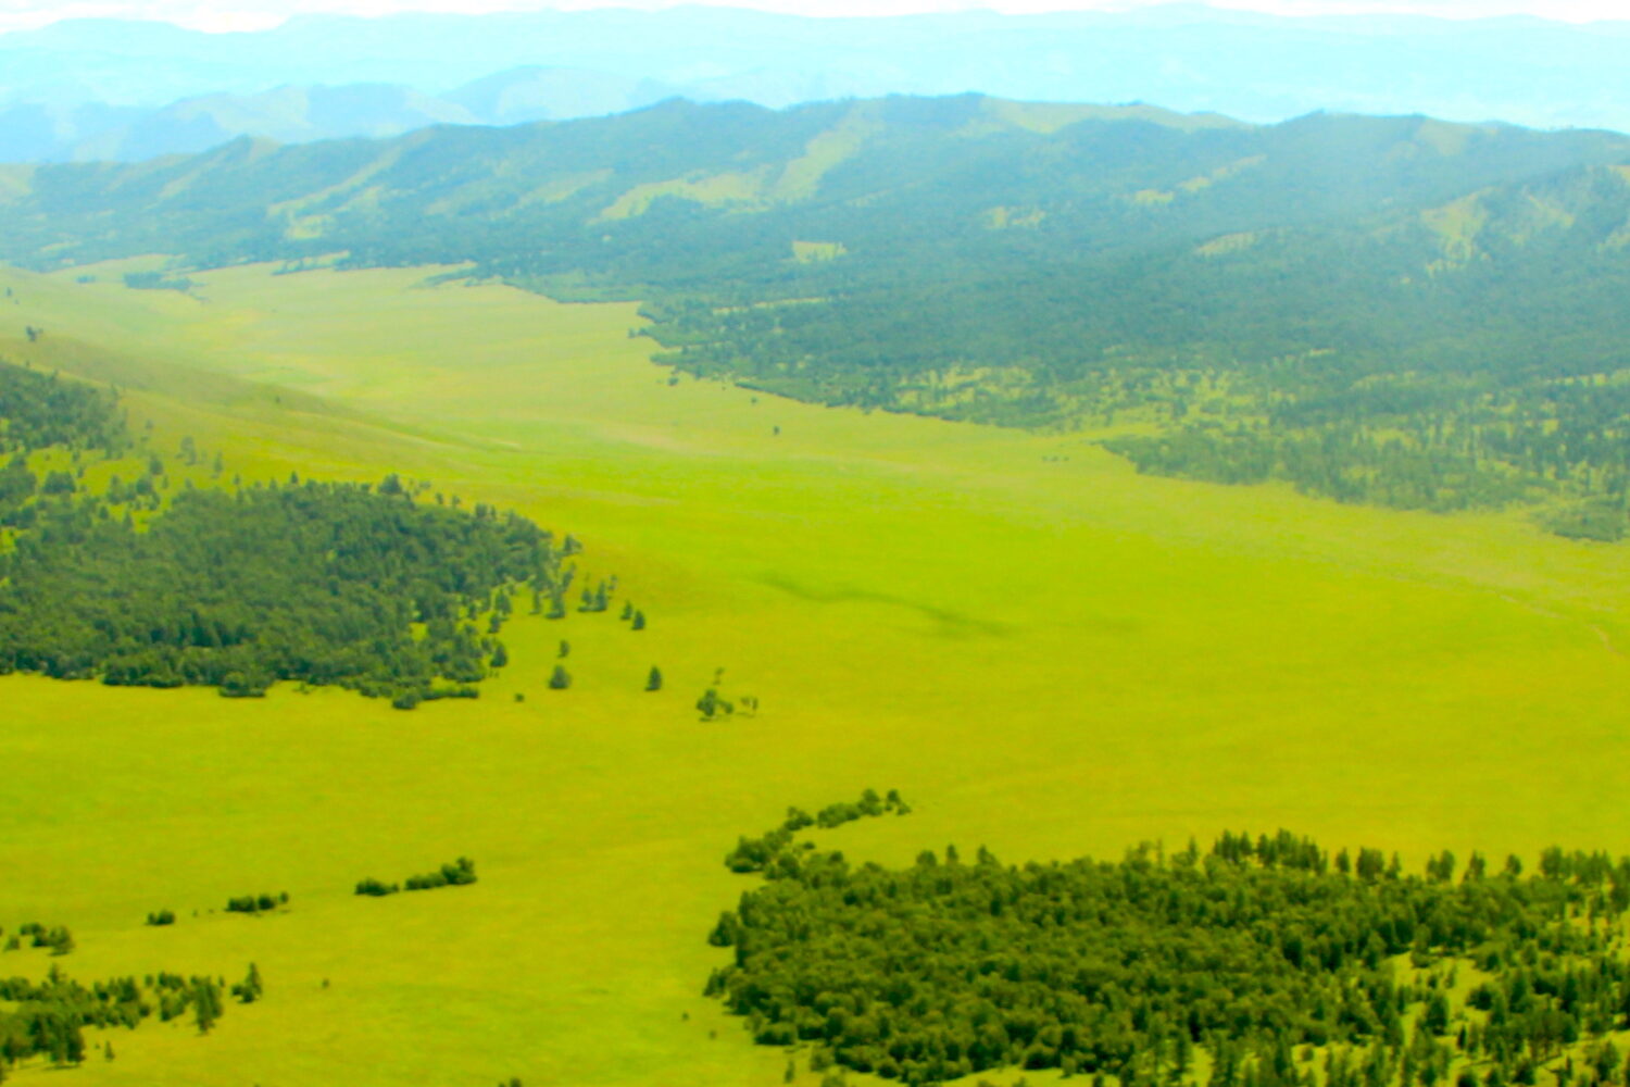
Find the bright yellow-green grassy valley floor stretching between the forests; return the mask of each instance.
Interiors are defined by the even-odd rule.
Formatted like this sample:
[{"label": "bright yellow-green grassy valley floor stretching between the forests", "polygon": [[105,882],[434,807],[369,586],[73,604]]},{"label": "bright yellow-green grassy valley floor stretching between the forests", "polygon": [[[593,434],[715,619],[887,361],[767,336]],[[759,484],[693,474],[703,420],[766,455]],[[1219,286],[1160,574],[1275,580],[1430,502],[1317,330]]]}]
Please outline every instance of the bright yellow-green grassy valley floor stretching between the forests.
[{"label": "bright yellow-green grassy valley floor stretching between the forests", "polygon": [[[200,484],[217,451],[246,481],[396,471],[575,533],[621,588],[608,614],[518,616],[479,701],[414,712],[0,678],[0,926],[70,926],[55,962],[82,979],[266,979],[209,1036],[148,1022],[114,1061],[20,1080],[781,1082],[786,1056],[699,996],[727,957],[704,935],[751,885],[720,860],[867,786],[916,812],[825,839],[890,862],[1278,826],[1412,867],[1630,852],[1623,546],[673,383],[634,306],[435,269],[240,267],[183,295],[124,267],[0,269],[0,357],[121,385],[153,448],[196,440]],[[574,684],[549,691],[562,637]],[[698,720],[716,668],[756,719]],[[458,854],[478,885],[352,895]],[[287,913],[220,913],[282,890]],[[143,926],[161,908],[178,924]]]}]

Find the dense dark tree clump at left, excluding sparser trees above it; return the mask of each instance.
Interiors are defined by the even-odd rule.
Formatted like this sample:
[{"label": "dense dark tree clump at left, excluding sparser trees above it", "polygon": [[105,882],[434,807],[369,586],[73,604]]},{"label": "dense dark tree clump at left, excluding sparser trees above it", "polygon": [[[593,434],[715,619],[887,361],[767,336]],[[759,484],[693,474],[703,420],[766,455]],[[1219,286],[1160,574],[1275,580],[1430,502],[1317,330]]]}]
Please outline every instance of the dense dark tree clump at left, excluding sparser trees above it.
[{"label": "dense dark tree clump at left, excluding sparser trees above it", "polygon": [[0,670],[67,680],[231,694],[297,680],[412,701],[481,680],[510,593],[561,577],[531,521],[401,489],[184,491],[142,530],[95,499],[36,505],[0,556]]}]

